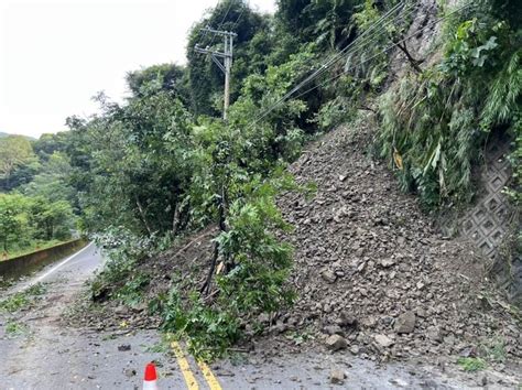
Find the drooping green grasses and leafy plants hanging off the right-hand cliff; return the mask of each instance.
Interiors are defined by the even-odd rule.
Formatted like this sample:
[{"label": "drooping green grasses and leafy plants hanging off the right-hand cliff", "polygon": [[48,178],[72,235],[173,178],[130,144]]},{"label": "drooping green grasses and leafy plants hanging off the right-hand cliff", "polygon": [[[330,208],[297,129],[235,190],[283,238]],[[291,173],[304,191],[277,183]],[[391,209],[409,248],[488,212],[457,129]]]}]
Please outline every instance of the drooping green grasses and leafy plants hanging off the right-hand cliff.
[{"label": "drooping green grasses and leafy plants hanging off the right-hand cliff", "polygon": [[453,23],[442,63],[380,99],[380,154],[429,208],[470,201],[489,134],[516,132],[520,117],[520,34],[489,14]]}]

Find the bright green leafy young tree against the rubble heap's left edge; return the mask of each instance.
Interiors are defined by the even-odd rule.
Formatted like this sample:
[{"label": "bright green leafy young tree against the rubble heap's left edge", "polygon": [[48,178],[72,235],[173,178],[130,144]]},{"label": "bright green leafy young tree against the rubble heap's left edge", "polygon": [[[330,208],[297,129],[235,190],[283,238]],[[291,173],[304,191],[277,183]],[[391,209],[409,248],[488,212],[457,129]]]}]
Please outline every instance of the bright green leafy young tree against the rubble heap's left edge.
[{"label": "bright green leafy young tree against the rubble heap's left edge", "polygon": [[292,247],[273,231],[287,231],[275,205],[278,187],[253,177],[242,196],[230,205],[228,229],[217,237],[224,256],[233,264],[218,278],[221,297],[240,314],[275,312],[286,307],[294,294],[285,280],[292,267]]}]

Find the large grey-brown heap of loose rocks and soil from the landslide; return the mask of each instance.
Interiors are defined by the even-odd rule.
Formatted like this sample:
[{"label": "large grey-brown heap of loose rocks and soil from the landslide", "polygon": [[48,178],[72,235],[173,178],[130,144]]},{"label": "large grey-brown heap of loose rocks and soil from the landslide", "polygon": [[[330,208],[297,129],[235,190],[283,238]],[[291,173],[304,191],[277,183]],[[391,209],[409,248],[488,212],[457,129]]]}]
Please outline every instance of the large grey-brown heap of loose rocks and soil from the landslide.
[{"label": "large grey-brown heap of loose rocks and soil from the landslide", "polygon": [[481,259],[437,232],[366,153],[371,138],[362,126],[339,128],[291,166],[318,191],[312,201],[286,194],[280,203],[295,226],[300,297],[273,332],[308,326],[330,335],[329,349],[383,359],[472,355],[491,343],[520,357],[520,323],[483,279]]}]

